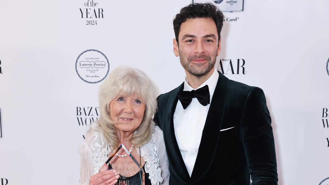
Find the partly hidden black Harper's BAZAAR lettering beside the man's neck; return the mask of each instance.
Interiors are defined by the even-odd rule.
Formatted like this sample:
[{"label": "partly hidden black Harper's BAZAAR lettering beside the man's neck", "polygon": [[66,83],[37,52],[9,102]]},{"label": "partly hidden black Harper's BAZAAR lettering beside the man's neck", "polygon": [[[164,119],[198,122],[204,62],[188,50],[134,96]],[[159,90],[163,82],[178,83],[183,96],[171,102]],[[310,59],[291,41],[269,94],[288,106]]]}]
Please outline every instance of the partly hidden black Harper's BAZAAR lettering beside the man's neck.
[{"label": "partly hidden black Harper's BAZAAR lettering beside the man's neck", "polygon": [[220,59],[217,70],[222,74],[246,74],[244,59]]}]

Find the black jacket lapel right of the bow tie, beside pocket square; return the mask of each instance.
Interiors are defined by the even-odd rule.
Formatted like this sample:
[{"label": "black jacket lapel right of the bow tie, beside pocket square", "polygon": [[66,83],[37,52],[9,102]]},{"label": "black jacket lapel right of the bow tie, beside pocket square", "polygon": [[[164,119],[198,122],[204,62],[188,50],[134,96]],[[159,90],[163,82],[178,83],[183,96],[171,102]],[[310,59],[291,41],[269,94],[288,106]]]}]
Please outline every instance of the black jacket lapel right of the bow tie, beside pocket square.
[{"label": "black jacket lapel right of the bow tie, beside pocket square", "polygon": [[211,100],[206,123],[202,131],[198,155],[194,164],[189,184],[200,180],[209,170],[218,145],[219,132],[228,90],[228,78],[219,71],[218,82]]}]

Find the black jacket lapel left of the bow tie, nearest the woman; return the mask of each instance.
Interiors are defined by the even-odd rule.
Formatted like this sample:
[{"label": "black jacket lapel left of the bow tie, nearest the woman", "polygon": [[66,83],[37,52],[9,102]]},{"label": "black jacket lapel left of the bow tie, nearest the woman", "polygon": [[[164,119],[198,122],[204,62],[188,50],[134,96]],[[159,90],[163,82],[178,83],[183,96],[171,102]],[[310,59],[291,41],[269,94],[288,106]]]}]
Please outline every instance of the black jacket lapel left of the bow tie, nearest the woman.
[{"label": "black jacket lapel left of the bow tie, nearest the woman", "polygon": [[174,130],[174,113],[178,102],[177,93],[183,89],[184,83],[178,88],[174,89],[168,99],[168,103],[164,112],[164,123],[169,124],[167,124],[168,127],[165,128],[164,133],[166,134],[165,142],[167,143],[167,146],[171,146],[170,149],[167,148],[168,159],[172,166],[171,172],[174,173],[177,178],[188,184],[190,181],[190,175],[185,167],[185,163],[179,150]]}]

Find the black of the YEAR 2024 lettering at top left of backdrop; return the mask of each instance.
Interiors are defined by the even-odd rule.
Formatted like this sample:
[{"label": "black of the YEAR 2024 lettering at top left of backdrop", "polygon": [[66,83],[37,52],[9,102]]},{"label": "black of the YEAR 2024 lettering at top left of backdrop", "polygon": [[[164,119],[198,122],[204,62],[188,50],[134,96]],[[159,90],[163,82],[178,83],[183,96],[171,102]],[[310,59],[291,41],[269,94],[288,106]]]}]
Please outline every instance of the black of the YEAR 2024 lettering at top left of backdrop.
[{"label": "black of the YEAR 2024 lettering at top left of backdrop", "polygon": [[86,25],[97,25],[97,20],[104,18],[104,10],[98,7],[98,2],[88,0],[84,3],[85,8],[80,8],[81,18],[86,18]]}]

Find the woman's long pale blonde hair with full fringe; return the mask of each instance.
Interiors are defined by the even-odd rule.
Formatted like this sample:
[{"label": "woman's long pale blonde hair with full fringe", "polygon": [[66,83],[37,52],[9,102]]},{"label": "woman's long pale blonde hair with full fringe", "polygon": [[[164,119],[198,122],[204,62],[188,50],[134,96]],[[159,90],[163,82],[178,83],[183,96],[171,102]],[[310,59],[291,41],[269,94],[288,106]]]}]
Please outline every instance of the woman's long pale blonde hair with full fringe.
[{"label": "woman's long pale blonde hair with full fringe", "polygon": [[117,96],[137,95],[145,104],[142,122],[135,130],[131,143],[136,147],[146,144],[152,136],[155,123],[153,116],[157,108],[154,88],[147,75],[136,68],[119,66],[99,86],[98,102],[100,118],[96,121],[99,131],[110,146],[118,147],[116,124],[110,115],[110,102]]}]

